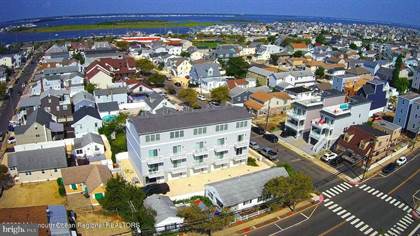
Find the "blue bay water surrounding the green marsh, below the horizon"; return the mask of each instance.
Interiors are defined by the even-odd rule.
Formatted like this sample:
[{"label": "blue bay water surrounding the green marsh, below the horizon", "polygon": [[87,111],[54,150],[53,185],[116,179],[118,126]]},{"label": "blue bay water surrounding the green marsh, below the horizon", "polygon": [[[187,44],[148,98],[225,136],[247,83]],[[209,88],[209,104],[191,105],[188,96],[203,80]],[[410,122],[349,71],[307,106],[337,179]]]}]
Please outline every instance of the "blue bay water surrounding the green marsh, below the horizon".
[{"label": "blue bay water surrounding the green marsh, below the horizon", "polygon": [[[57,16],[37,19],[24,19],[17,21],[1,22],[0,27],[10,25],[21,25],[33,23],[38,27],[73,25],[73,24],[95,24],[109,21],[120,20],[162,20],[170,22],[285,22],[285,21],[305,21],[305,22],[324,22],[324,23],[343,23],[343,24],[383,24],[381,22],[366,22],[354,19],[338,19],[328,17],[299,17],[299,16],[276,16],[276,15],[234,15],[234,14],[110,14],[110,15],[80,15],[80,16]],[[407,25],[394,25],[409,27]],[[147,34],[165,34],[168,31],[173,33],[187,33],[193,29],[187,27],[177,28],[149,28],[149,29],[106,29],[106,30],[81,30],[66,31],[56,33],[34,33],[34,32],[0,32],[0,43],[8,44],[13,42],[35,42],[58,39],[71,39],[79,37],[96,37],[106,35],[124,35],[133,31],[140,31]]]}]

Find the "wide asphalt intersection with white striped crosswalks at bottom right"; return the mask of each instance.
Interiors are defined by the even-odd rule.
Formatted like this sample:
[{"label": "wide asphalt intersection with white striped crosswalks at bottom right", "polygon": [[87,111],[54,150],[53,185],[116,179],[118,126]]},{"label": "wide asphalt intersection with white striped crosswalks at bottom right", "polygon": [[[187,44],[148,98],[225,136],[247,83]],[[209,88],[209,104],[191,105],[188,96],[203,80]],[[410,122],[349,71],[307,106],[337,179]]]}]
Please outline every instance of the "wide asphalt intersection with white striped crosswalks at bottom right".
[{"label": "wide asphalt intersection with white striped crosswalks at bottom right", "polygon": [[420,188],[419,157],[420,153],[410,155],[409,162],[394,173],[377,175],[340,193],[334,186],[329,191],[338,194],[324,203],[248,235],[408,235],[419,224],[409,213],[412,195]]}]

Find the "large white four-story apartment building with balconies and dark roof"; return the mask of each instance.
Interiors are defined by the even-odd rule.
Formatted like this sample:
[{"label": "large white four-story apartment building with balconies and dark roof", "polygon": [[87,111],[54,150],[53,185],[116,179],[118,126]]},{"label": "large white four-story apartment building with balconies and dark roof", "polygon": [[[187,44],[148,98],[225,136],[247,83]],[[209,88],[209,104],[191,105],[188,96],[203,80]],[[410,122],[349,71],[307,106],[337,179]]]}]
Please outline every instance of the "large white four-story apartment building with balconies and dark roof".
[{"label": "large white four-story apartment building with balconies and dark roof", "polygon": [[242,107],[127,120],[128,156],[145,184],[246,164],[251,116]]}]

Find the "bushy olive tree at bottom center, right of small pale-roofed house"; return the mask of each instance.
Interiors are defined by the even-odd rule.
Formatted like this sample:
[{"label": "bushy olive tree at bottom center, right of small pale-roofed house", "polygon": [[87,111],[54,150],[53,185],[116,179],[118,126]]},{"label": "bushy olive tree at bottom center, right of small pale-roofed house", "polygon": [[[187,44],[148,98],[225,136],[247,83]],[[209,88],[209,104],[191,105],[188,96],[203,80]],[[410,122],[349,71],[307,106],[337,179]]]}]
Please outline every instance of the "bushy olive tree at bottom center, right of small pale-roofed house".
[{"label": "bushy olive tree at bottom center, right of small pale-roofed house", "polygon": [[190,207],[180,208],[178,216],[184,218],[187,225],[186,231],[195,231],[198,233],[208,233],[221,230],[228,226],[234,219],[232,214],[222,210],[216,214],[215,207],[209,207],[208,210],[201,210],[195,204]]}]

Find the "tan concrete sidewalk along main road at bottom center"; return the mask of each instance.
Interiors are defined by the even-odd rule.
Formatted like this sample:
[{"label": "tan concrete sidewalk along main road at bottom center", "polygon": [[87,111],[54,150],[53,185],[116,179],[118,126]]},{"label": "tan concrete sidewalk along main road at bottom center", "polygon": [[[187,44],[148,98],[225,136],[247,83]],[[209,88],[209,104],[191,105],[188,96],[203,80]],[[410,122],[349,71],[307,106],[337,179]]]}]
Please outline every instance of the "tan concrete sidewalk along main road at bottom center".
[{"label": "tan concrete sidewalk along main road at bottom center", "polygon": [[298,203],[296,206],[296,211],[291,211],[289,208],[282,208],[278,211],[268,213],[262,216],[258,216],[252,220],[246,221],[246,222],[238,222],[235,223],[233,226],[229,228],[225,228],[221,231],[214,232],[213,235],[215,236],[223,236],[223,235],[246,235],[250,231],[264,227],[266,225],[269,225],[273,222],[276,222],[278,220],[286,219],[290,216],[293,216],[295,214],[298,214],[299,212],[306,210],[309,207],[315,206],[317,204],[313,204],[310,201],[304,201],[301,203]]}]

